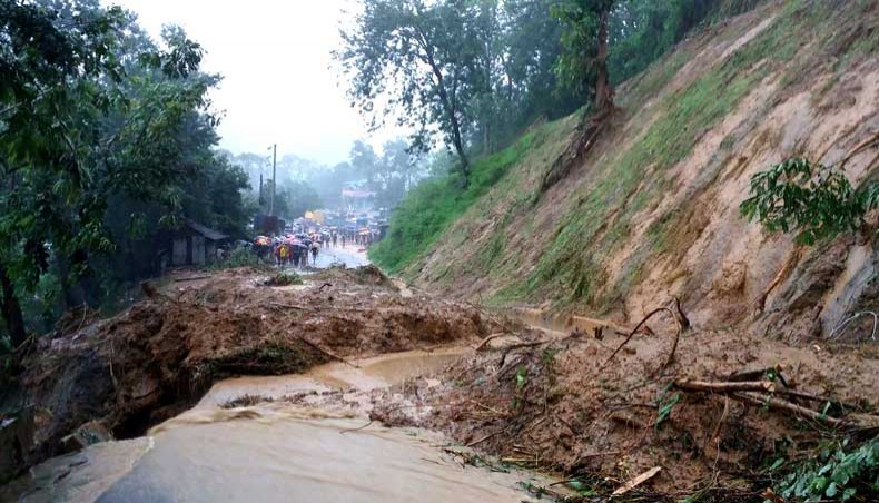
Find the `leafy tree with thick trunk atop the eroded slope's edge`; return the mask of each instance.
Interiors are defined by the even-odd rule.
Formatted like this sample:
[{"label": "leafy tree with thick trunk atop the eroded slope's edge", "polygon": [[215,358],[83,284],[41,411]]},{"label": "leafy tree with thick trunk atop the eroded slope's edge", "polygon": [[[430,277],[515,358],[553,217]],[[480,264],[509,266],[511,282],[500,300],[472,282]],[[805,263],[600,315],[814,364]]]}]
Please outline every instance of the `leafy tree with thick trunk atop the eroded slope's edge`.
[{"label": "leafy tree with thick trunk atop the eroded slope's edge", "polygon": [[555,16],[565,27],[563,52],[557,71],[574,89],[592,91],[596,114],[613,108],[613,88],[608,71],[608,37],[611,12],[616,0],[565,0],[553,6]]}]

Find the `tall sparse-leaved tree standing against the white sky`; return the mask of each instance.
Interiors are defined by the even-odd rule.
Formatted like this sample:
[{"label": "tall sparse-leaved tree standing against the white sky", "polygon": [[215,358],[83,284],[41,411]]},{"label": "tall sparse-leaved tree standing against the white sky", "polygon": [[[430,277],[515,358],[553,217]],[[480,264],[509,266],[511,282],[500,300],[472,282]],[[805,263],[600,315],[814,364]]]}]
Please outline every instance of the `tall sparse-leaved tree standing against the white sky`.
[{"label": "tall sparse-leaved tree standing against the white sky", "polygon": [[[414,129],[413,147],[427,150],[438,128],[454,149],[464,184],[470,177],[468,103],[480,87],[481,51],[475,2],[467,0],[364,0],[354,29],[343,30],[335,53],[350,78],[353,105],[378,127],[388,114]],[[376,114],[377,101],[386,107]]]}]

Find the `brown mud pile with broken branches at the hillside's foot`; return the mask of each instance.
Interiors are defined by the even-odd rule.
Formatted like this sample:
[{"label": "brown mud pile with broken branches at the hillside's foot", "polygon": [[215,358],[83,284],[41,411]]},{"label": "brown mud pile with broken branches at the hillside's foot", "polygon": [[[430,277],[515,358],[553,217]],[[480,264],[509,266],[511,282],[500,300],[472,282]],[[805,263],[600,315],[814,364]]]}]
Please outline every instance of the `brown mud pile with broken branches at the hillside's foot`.
[{"label": "brown mud pile with broken branches at the hillside's foot", "polygon": [[[875,344],[791,346],[690,332],[665,365],[674,327],[651,325],[612,359],[621,333],[556,333],[543,344],[494,339],[440,377],[443,386],[395,389],[376,398],[373,415],[444,431],[510,464],[564,473],[593,496],[660,467],[633,493],[638,501],[762,501],[773,463],[816,456],[842,432],[869,438],[879,426],[879,416],[866,413],[879,384]],[[763,391],[697,392],[694,381]],[[743,401],[749,394],[758,400]],[[770,398],[824,414],[780,410]]]}]

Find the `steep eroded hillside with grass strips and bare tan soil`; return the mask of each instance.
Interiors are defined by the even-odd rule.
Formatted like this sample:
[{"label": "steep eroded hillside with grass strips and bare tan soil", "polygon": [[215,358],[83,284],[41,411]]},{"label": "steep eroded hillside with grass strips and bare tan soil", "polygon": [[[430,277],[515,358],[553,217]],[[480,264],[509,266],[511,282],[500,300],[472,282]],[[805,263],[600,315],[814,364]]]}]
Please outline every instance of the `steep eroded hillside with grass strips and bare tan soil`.
[{"label": "steep eroded hillside with grass strips and bare tan soil", "polygon": [[[875,233],[804,248],[739,211],[754,172],[791,156],[832,165],[879,130],[879,4],[838,3],[771,1],[693,34],[618,89],[611,127],[543,194],[577,118],[540,127],[550,138],[404,275],[623,322],[678,296],[700,327],[787,337],[875,307]],[[877,176],[877,154],[847,165],[853,185]]]}]

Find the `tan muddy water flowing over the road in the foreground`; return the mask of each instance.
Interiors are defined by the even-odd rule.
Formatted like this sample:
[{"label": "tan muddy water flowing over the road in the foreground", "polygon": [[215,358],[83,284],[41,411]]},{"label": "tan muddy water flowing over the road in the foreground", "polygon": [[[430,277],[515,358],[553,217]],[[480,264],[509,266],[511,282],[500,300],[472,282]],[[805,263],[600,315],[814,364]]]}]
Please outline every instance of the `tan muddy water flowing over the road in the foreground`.
[{"label": "tan muddy water flowing over the road in the foreground", "polygon": [[[296,376],[217,383],[145,438],[98,444],[34,469],[22,501],[516,502],[525,472],[462,466],[419,430],[369,424],[369,391],[428,379],[464,348],[334,363]],[[308,395],[290,401],[292,395]],[[246,407],[245,395],[275,398]],[[325,396],[342,401],[325,401]],[[21,489],[21,485],[18,487]],[[0,497],[2,500],[2,497]]]}]

